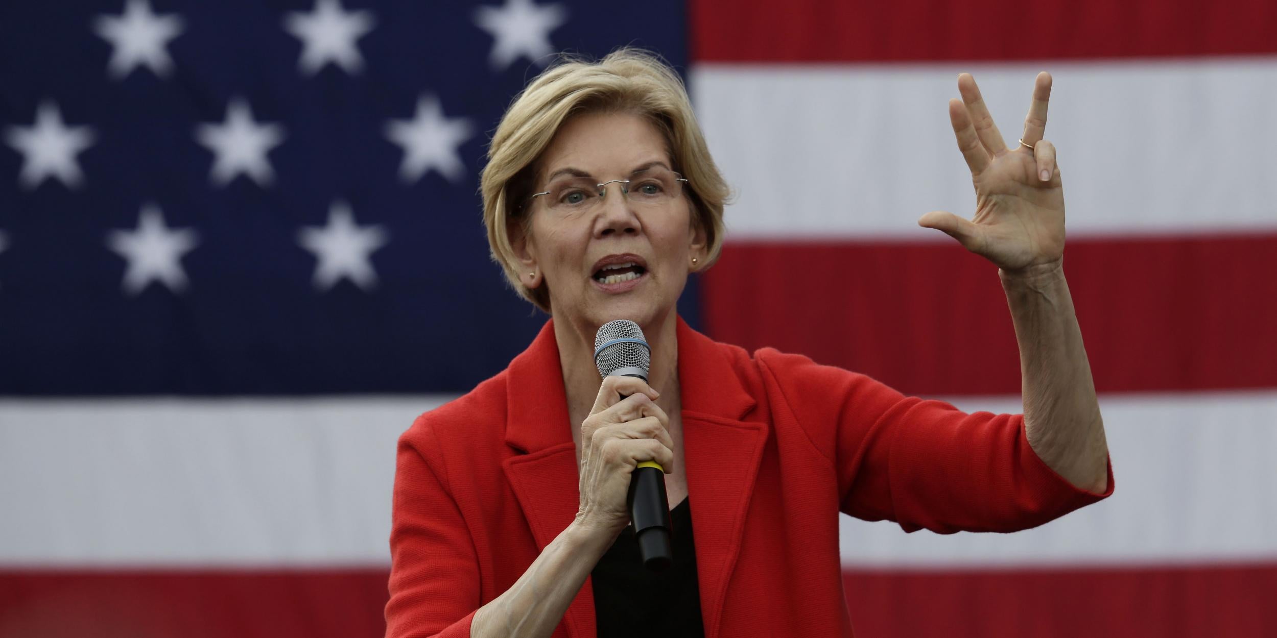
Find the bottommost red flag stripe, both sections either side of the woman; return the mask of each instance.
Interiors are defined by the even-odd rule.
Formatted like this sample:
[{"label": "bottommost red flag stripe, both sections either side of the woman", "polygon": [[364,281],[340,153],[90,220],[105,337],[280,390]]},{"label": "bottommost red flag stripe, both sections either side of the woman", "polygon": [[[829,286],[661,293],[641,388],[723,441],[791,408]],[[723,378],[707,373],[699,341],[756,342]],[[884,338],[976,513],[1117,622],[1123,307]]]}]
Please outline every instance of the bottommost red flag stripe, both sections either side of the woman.
[{"label": "bottommost red flag stripe, both sections either side of the woman", "polygon": [[[0,638],[378,638],[387,572],[0,572]],[[1277,564],[844,570],[857,635],[1259,638]],[[1175,610],[1167,614],[1166,610]]]}]

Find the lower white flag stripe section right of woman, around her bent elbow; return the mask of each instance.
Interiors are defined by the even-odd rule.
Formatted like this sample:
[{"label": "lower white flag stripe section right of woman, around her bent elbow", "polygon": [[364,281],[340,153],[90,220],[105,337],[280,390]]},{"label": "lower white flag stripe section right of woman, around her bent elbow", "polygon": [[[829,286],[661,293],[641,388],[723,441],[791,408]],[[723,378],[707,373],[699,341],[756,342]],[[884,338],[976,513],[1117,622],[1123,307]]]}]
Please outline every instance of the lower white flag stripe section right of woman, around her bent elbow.
[{"label": "lower white flag stripe section right of woman, around her bent elbow", "polygon": [[[950,401],[1019,412],[1019,398]],[[842,517],[844,567],[1277,559],[1277,392],[1105,394],[1112,496],[1016,533],[903,533]]]}]

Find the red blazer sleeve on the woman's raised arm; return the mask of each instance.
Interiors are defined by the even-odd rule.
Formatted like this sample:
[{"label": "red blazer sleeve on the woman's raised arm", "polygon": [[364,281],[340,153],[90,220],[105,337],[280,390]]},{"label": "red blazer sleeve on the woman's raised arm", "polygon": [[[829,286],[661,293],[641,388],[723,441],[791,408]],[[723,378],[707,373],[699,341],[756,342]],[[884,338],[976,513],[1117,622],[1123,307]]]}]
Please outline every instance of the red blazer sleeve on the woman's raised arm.
[{"label": "red blazer sleeve on the woman's raised arm", "polygon": [[[1029,447],[1023,415],[965,413],[905,397],[863,374],[767,348],[785,411],[838,475],[840,510],[905,532],[1013,532],[1114,491],[1075,487]],[[760,351],[761,353],[761,351]]]}]

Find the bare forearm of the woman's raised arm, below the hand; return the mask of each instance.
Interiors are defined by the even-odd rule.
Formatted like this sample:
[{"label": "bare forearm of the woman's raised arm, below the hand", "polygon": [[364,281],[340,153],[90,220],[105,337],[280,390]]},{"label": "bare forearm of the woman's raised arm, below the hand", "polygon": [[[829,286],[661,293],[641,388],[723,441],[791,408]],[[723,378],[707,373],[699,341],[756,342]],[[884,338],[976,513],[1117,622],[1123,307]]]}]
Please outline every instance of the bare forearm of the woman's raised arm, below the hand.
[{"label": "bare forearm of the woman's raised arm, below the hand", "polygon": [[1102,493],[1108,443],[1064,264],[999,273],[1020,348],[1029,445],[1077,487]]}]

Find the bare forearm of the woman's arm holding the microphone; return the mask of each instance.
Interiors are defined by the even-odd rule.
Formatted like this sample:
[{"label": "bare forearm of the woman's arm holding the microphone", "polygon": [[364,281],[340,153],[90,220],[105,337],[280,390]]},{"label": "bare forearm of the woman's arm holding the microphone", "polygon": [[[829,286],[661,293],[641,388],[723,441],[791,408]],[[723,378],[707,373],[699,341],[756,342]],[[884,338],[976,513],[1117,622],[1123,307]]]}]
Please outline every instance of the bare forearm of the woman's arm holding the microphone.
[{"label": "bare forearm of the woman's arm holding the microphone", "polygon": [[614,540],[573,522],[545,546],[506,593],[479,607],[470,624],[470,635],[550,635],[585,577]]}]

